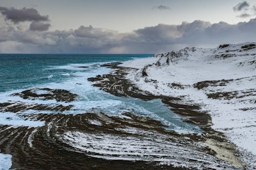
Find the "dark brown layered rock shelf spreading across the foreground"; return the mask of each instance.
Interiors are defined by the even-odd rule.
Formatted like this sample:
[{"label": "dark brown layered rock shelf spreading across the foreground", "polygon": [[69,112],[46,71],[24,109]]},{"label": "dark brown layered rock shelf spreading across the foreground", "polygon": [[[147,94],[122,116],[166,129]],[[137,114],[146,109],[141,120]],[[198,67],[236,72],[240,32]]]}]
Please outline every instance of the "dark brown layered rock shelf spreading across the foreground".
[{"label": "dark brown layered rock shelf spreading across the foreground", "polygon": [[[31,128],[0,125],[0,149],[2,153],[12,155],[12,169],[191,169],[197,163],[201,165],[201,169],[208,169],[213,163],[221,168],[234,168],[231,164],[216,158],[215,151],[198,144],[198,141],[205,141],[207,135],[179,135],[163,129],[158,121],[151,118],[131,113],[124,115],[130,118],[108,116],[104,113],[24,115],[26,119],[45,121],[45,126]],[[99,122],[100,125],[93,124],[93,121]],[[63,139],[63,135],[67,132],[86,134],[90,137],[88,140],[98,138],[103,143],[102,137],[110,135],[114,138],[113,141],[132,138],[135,144],[147,141],[151,145],[135,145],[134,148],[137,150],[133,152],[125,154],[126,150],[123,150],[112,154],[112,145],[105,143],[102,145],[102,150],[108,152],[101,155],[93,152],[94,148],[83,151],[75,145],[67,144],[67,139]],[[95,135],[97,138],[94,137]],[[120,143],[120,147],[124,147],[122,144],[124,143]],[[86,146],[81,147],[86,148]],[[158,152],[148,152],[147,148],[154,148]],[[122,148],[116,149],[122,150]],[[140,153],[144,155],[139,158],[145,157],[145,161],[121,160],[122,157],[138,157],[136,154]],[[168,153],[168,155],[163,157],[162,153]],[[94,156],[111,156],[116,159],[108,160]],[[157,161],[146,161],[162,157],[169,159],[170,162],[175,161],[177,164],[186,163],[191,168],[182,167],[182,164],[177,167],[171,164],[159,164]]]}]

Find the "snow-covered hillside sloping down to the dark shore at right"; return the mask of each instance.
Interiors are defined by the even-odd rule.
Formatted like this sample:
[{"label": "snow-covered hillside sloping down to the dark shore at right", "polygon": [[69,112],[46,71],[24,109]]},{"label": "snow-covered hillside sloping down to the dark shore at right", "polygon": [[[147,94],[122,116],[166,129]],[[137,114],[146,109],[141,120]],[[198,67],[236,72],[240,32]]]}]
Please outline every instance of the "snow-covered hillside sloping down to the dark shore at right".
[{"label": "snow-covered hillside sloping down to the dark shore at right", "polygon": [[224,44],[212,49],[186,47],[120,66],[138,68],[126,78],[142,90],[199,104],[211,115],[213,129],[225,133],[241,151],[255,156],[255,47],[255,43]]}]

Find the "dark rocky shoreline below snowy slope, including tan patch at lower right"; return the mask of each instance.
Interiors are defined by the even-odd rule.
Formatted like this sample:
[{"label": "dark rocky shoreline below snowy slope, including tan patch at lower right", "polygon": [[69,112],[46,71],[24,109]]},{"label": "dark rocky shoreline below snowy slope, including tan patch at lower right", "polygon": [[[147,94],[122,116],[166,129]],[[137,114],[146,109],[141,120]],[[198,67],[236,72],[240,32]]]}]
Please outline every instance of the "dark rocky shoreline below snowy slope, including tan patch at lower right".
[{"label": "dark rocky shoreline below snowy slope, including tan patch at lower right", "polygon": [[[200,111],[199,105],[184,105],[179,103],[181,99],[172,98],[164,95],[153,95],[148,91],[142,91],[136,85],[132,84],[125,78],[128,71],[138,70],[120,65],[120,62],[103,64],[101,66],[109,67],[112,71],[109,74],[98,75],[96,78],[89,78],[94,82],[93,86],[99,87],[101,90],[110,92],[117,96],[131,96],[142,100],[161,99],[161,101],[170,107],[170,110],[183,117],[184,122],[197,125],[204,131],[203,143],[211,150],[216,152],[216,156],[220,159],[228,161],[237,167],[246,167],[247,165],[240,161],[240,151],[237,146],[227,139],[222,132],[218,132],[211,128],[211,116],[206,112]],[[200,139],[202,140],[202,139]]]}]

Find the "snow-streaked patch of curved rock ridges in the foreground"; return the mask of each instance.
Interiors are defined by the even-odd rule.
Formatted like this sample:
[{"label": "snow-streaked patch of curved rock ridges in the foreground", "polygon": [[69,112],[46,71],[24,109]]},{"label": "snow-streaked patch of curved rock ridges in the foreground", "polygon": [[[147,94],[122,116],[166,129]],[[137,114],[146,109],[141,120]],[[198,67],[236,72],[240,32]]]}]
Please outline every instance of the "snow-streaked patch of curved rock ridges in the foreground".
[{"label": "snow-streaked patch of curved rock ridges in the foreground", "polygon": [[232,167],[231,164],[217,159],[214,155],[197,150],[204,147],[200,143],[176,143],[164,134],[134,127],[116,130],[132,135],[67,131],[61,136],[61,141],[77,152],[102,159],[155,161],[160,164],[196,169]]}]

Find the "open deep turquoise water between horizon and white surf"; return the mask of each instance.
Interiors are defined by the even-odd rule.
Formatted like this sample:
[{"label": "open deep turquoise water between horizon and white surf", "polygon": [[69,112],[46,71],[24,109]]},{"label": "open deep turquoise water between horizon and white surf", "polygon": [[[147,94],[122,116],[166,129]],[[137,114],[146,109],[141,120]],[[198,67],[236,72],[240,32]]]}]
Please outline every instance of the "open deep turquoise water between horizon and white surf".
[{"label": "open deep turquoise water between horizon and white surf", "polygon": [[[63,81],[67,64],[127,61],[151,54],[0,54],[0,92]],[[47,69],[63,66],[63,69]],[[69,70],[75,72],[76,70]]]}]

